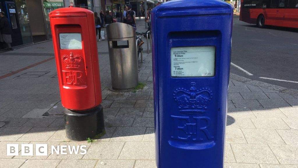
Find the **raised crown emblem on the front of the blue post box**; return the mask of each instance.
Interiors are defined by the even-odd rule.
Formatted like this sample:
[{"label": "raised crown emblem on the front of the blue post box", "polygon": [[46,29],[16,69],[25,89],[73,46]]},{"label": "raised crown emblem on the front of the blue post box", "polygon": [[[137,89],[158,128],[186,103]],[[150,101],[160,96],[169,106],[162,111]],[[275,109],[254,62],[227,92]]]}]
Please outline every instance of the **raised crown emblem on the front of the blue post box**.
[{"label": "raised crown emblem on the front of the blue post box", "polygon": [[206,112],[207,103],[212,99],[212,91],[208,88],[197,89],[191,82],[190,89],[178,88],[174,91],[174,99],[181,113],[201,114]]}]

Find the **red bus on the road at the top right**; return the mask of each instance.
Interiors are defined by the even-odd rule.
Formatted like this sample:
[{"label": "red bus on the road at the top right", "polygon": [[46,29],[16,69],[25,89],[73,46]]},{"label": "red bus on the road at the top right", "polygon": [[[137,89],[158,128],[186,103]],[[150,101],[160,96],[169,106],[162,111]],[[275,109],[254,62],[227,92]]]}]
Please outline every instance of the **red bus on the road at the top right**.
[{"label": "red bus on the road at the top right", "polygon": [[259,28],[298,28],[298,0],[241,0],[239,20]]}]

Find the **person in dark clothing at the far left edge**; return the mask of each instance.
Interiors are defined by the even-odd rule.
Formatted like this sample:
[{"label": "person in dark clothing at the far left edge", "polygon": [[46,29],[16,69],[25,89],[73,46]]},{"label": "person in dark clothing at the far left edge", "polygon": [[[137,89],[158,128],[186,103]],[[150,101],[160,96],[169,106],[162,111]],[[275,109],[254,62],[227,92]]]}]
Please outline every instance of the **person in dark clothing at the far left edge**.
[{"label": "person in dark clothing at the far left edge", "polygon": [[6,43],[6,50],[13,51],[10,43],[12,43],[11,39],[11,28],[7,17],[5,17],[4,12],[0,12],[0,41]]}]

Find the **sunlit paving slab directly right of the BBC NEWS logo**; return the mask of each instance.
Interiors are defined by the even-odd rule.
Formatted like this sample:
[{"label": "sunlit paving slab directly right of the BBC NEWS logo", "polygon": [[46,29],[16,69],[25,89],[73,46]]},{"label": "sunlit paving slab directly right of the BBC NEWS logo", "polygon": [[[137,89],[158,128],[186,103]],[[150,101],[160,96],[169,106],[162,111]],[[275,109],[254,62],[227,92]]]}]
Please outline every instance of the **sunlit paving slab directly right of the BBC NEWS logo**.
[{"label": "sunlit paving slab directly right of the BBC NEWS logo", "polygon": [[125,142],[98,141],[91,144],[83,159],[118,159]]}]

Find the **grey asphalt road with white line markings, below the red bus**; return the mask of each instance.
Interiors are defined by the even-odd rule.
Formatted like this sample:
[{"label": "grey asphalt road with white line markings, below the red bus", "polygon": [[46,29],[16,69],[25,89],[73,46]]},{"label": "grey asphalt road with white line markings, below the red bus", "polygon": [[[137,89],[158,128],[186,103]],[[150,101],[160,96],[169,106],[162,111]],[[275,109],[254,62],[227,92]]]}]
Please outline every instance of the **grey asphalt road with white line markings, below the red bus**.
[{"label": "grey asphalt road with white line markings, below the red bus", "polygon": [[232,40],[232,73],[298,89],[298,29],[261,29],[234,16]]}]

